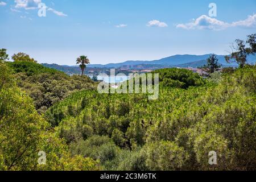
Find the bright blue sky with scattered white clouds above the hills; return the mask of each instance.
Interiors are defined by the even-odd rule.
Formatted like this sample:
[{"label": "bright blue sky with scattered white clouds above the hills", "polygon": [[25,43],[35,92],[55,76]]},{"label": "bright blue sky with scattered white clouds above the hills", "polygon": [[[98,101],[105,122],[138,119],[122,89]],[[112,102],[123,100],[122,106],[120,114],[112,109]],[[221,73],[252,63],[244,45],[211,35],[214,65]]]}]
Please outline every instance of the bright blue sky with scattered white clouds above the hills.
[{"label": "bright blue sky with scattered white clouds above the hills", "polygon": [[[38,4],[46,16],[38,16]],[[217,16],[209,16],[209,3]],[[226,54],[256,33],[256,1],[0,0],[0,48],[39,63],[74,65],[154,60],[176,54]]]}]

